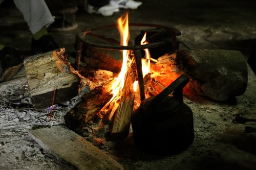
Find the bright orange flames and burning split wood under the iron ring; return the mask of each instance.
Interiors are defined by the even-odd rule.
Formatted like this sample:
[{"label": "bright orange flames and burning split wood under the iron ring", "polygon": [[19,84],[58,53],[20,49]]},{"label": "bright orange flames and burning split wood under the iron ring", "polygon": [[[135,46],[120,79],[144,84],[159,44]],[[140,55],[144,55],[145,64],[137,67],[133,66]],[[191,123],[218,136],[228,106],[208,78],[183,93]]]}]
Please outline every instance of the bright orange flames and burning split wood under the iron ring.
[{"label": "bright orange flames and burning split wood under the iron ring", "polygon": [[[120,43],[118,42],[118,46],[114,46],[113,48],[122,50],[121,69],[116,78],[104,85],[104,92],[110,93],[112,97],[97,112],[97,115],[103,119],[104,123],[111,123],[113,125],[112,136],[126,137],[130,131],[132,112],[139,107],[141,101],[162,91],[164,85],[154,79],[155,75],[159,75],[159,73],[151,69],[151,61],[157,62],[157,60],[150,56],[150,52],[147,48],[146,32],[139,45],[129,46],[130,26],[128,13],[120,17],[117,22],[121,41]],[[155,25],[146,26],[152,27]],[[172,34],[173,32],[172,30]],[[162,32],[159,33],[163,34]],[[82,38],[88,35],[99,37],[92,31],[87,30],[83,33]],[[110,40],[106,37],[101,38]],[[113,40],[111,39],[111,41]],[[163,42],[157,42],[155,46],[162,44]],[[152,46],[154,43],[150,45]],[[109,46],[106,48],[109,48]],[[141,56],[141,50],[145,53],[144,57]],[[77,68],[79,68],[79,65],[77,65]],[[152,81],[154,81],[154,84],[151,83]],[[156,88],[158,88],[158,91]],[[88,117],[92,118],[93,116],[90,115]],[[86,118],[86,122],[90,120],[88,117]]]}]

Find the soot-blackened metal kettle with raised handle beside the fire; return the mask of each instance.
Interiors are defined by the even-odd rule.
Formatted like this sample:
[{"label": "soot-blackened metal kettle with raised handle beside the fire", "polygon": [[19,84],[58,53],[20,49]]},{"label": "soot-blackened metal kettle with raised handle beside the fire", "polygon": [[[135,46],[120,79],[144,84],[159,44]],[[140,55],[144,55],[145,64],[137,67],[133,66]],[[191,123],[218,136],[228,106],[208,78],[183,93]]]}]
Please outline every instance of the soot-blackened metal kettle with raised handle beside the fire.
[{"label": "soot-blackened metal kettle with raised handle beside the fire", "polygon": [[193,113],[183,102],[183,88],[188,82],[189,77],[181,75],[157,96],[141,102],[131,119],[139,149],[151,154],[176,154],[193,143]]}]

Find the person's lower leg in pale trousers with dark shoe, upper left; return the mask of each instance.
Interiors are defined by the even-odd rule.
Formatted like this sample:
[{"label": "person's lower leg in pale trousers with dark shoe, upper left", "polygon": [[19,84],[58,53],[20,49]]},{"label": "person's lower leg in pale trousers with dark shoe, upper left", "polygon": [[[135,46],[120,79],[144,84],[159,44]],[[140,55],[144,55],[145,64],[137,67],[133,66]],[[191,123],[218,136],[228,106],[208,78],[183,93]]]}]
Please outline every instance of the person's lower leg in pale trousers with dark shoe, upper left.
[{"label": "person's lower leg in pale trousers with dark shoe, upper left", "polygon": [[22,12],[29,30],[33,34],[31,41],[32,54],[45,53],[59,48],[53,37],[48,34],[47,27],[54,18],[44,0],[14,0],[16,7]]}]

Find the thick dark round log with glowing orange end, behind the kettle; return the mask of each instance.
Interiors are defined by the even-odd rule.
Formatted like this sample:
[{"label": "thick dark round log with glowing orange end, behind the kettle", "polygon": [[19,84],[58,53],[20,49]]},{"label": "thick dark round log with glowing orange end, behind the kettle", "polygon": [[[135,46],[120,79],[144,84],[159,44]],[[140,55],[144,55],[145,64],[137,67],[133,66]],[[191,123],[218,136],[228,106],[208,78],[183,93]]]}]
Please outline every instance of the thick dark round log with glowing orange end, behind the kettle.
[{"label": "thick dark round log with glowing orange end, behind the kettle", "polygon": [[247,63],[243,54],[230,50],[177,50],[152,66],[164,86],[183,73],[190,77],[184,90],[214,101],[243,94],[247,87]]}]

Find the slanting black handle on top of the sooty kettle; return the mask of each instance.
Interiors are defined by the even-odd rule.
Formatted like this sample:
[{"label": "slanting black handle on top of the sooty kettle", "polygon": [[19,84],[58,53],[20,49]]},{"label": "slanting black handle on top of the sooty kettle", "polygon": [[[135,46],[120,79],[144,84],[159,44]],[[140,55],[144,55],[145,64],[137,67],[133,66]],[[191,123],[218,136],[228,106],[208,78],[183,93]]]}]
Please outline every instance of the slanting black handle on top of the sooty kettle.
[{"label": "slanting black handle on top of the sooty kettle", "polygon": [[185,74],[178,77],[173,83],[163,89],[151,102],[151,106],[160,104],[171,92],[183,102],[183,87],[189,82],[189,77]]}]

